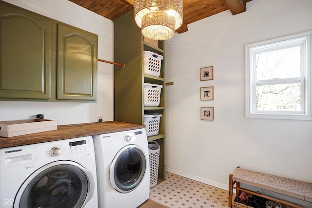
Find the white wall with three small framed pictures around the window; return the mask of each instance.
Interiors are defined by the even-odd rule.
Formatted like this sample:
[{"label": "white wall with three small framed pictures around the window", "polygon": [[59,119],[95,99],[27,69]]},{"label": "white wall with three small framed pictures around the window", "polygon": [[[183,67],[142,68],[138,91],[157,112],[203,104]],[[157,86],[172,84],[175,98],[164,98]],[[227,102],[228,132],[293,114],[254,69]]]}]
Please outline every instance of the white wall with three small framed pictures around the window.
[{"label": "white wall with three small framed pictures around the window", "polygon": [[[312,0],[253,0],[166,41],[166,167],[228,189],[236,166],[312,182],[312,121],[245,118],[245,45],[312,30]],[[214,66],[214,80],[199,69]],[[214,101],[200,87],[214,86]],[[200,120],[200,107],[215,120]]]}]

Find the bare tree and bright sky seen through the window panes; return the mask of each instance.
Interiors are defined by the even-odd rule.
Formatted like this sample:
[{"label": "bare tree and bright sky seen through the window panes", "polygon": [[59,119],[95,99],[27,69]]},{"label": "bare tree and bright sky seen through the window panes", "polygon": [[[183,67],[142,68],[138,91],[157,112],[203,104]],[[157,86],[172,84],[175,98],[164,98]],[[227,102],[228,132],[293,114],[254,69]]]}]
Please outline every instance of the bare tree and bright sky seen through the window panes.
[{"label": "bare tree and bright sky seen through the window panes", "polygon": [[[300,77],[300,69],[300,47],[256,54],[256,80],[285,82]],[[300,96],[300,82],[256,85],[256,110],[301,111]]]}]

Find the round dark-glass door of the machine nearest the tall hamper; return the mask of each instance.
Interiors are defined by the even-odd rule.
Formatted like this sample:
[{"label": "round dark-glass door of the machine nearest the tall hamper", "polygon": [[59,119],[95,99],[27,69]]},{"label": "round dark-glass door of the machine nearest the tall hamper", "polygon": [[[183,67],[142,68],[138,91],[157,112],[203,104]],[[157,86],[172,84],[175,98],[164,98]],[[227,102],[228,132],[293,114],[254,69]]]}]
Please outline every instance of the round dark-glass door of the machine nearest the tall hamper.
[{"label": "round dark-glass door of the machine nearest the tall hamper", "polygon": [[144,152],[137,145],[119,150],[111,163],[109,177],[114,189],[121,193],[133,191],[141,183],[146,170]]}]

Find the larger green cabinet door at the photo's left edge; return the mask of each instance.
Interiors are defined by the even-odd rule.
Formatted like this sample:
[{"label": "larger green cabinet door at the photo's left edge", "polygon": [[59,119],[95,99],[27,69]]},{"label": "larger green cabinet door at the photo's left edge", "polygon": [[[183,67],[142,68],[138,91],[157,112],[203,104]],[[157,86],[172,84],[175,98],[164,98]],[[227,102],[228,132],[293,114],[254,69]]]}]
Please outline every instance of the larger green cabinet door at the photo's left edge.
[{"label": "larger green cabinet door at the photo's left edge", "polygon": [[0,97],[50,98],[51,20],[0,2]]}]

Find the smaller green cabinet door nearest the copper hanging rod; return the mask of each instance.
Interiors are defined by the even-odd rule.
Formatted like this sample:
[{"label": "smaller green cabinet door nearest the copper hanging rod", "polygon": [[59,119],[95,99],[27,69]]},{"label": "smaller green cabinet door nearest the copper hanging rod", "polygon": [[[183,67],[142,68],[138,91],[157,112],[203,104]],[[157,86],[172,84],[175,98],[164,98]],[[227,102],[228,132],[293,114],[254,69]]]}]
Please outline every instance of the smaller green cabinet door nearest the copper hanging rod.
[{"label": "smaller green cabinet door nearest the copper hanging rod", "polygon": [[96,100],[98,35],[58,24],[57,99]]}]

